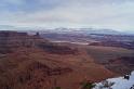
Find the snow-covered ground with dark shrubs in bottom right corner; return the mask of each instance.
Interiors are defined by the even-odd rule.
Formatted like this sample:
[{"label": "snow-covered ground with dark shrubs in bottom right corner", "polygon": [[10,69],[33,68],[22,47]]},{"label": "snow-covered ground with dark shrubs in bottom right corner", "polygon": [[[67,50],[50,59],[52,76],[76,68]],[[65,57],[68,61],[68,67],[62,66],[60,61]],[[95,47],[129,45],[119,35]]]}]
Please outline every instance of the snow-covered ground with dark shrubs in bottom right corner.
[{"label": "snow-covered ground with dark shrubs in bottom right corner", "polygon": [[96,84],[93,89],[134,89],[134,72],[130,75],[130,79],[124,79],[124,77],[109,78]]}]

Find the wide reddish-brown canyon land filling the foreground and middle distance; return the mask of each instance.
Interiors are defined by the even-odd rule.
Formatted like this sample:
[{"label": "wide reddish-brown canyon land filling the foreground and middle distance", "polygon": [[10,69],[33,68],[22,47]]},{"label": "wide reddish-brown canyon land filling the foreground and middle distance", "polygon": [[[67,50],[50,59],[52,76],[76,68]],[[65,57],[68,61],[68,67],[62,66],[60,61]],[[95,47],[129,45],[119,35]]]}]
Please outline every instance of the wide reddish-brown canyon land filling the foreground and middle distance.
[{"label": "wide reddish-brown canyon land filling the foreground and middle distance", "polygon": [[80,89],[83,81],[129,73],[133,54],[124,48],[53,42],[39,33],[0,31],[0,89]]}]

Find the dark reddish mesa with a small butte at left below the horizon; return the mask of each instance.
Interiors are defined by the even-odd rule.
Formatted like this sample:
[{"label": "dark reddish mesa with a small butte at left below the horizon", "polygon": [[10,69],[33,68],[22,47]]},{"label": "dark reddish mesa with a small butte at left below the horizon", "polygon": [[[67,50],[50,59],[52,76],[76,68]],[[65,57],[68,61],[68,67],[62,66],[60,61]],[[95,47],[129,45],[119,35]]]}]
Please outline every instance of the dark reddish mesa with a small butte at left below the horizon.
[{"label": "dark reddish mesa with a small butte at left below the horizon", "polygon": [[12,52],[19,47],[34,47],[41,39],[39,34],[30,36],[27,33],[0,31],[0,53]]}]

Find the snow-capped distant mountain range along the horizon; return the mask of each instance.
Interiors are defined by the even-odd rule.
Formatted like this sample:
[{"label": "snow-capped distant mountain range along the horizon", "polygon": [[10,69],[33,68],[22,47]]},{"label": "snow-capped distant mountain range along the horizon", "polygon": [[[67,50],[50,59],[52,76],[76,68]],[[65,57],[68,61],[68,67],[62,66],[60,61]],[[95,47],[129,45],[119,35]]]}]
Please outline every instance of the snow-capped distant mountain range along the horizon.
[{"label": "snow-capped distant mountain range along the horizon", "polygon": [[43,28],[43,27],[15,27],[10,25],[0,25],[0,30],[18,30],[28,33],[57,33],[57,34],[106,34],[106,35],[134,35],[134,31],[118,31],[115,29],[103,28]]}]

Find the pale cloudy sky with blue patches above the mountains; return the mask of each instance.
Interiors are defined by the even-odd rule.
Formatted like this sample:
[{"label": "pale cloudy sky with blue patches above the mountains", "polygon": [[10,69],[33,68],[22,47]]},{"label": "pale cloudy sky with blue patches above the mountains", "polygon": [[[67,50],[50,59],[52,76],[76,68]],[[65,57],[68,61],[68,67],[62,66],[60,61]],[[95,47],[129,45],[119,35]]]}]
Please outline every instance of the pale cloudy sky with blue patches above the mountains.
[{"label": "pale cloudy sky with blue patches above the mountains", "polygon": [[134,31],[134,0],[0,0],[0,26]]}]

